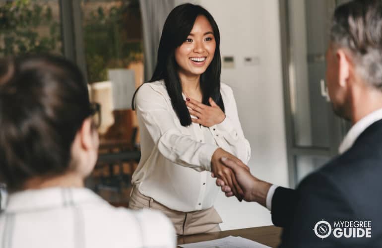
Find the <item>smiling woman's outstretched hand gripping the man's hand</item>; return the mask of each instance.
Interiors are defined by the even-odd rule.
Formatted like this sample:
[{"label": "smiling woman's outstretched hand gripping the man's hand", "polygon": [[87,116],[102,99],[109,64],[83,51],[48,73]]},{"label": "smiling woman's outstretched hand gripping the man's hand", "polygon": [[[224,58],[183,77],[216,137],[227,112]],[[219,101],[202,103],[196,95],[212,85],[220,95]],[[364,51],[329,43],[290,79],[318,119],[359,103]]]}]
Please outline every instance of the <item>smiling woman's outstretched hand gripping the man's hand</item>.
[{"label": "smiling woman's outstretched hand gripping the man's hand", "polygon": [[[222,157],[229,157],[233,161],[241,162],[240,159],[236,158],[231,153],[226,152],[222,148],[218,148],[213,153],[211,158],[212,175],[220,179],[224,183],[224,185],[229,186],[232,195],[235,195],[239,201],[242,201],[243,195],[244,195],[243,189],[240,187],[240,185],[236,181],[234,172],[222,163],[221,161]],[[246,165],[244,165],[243,170],[249,171],[249,168]]]}]

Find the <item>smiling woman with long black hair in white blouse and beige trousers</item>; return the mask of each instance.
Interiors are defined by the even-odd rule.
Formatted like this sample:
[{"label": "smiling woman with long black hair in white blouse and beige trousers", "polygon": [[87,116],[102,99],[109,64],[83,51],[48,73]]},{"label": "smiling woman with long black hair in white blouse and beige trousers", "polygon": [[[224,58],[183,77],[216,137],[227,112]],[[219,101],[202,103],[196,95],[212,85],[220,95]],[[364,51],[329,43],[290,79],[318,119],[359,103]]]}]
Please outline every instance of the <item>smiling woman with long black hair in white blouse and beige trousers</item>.
[{"label": "smiling woman with long black hair in white blouse and beige trousers", "polygon": [[219,45],[219,29],[207,10],[190,3],[177,6],[164,24],[154,74],[132,101],[141,159],[129,207],[161,210],[179,235],[220,230],[211,172],[240,200],[243,194],[220,161],[247,163],[251,149],[232,89],[220,82]]}]

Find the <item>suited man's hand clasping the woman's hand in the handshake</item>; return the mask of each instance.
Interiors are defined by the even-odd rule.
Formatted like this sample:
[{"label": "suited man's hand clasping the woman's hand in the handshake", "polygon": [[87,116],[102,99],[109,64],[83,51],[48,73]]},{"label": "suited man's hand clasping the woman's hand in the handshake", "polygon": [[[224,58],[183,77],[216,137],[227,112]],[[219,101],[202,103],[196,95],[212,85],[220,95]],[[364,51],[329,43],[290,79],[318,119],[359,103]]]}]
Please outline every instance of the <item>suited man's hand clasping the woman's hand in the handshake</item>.
[{"label": "suited man's hand clasping the woman's hand in the handshake", "polygon": [[[252,176],[250,171],[243,167],[245,165],[241,161],[234,161],[226,157],[222,157],[221,161],[224,165],[234,171],[236,180],[244,192],[243,199],[245,201],[258,202],[266,207],[266,195],[272,185]],[[227,185],[223,180],[218,178],[216,180],[216,185],[221,187],[227,197],[234,195],[231,186]]]}]

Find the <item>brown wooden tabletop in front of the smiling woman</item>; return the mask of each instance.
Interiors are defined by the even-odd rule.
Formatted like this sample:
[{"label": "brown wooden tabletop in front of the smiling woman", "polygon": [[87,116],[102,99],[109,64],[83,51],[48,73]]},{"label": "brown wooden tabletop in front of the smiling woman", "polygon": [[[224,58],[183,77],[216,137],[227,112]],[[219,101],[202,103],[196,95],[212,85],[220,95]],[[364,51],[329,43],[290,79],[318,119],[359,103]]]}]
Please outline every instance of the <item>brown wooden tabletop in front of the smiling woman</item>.
[{"label": "brown wooden tabletop in front of the smiling woman", "polygon": [[269,247],[277,247],[280,244],[281,228],[275,226],[252,227],[215,233],[183,235],[178,236],[178,245],[216,240],[231,235],[253,240]]}]

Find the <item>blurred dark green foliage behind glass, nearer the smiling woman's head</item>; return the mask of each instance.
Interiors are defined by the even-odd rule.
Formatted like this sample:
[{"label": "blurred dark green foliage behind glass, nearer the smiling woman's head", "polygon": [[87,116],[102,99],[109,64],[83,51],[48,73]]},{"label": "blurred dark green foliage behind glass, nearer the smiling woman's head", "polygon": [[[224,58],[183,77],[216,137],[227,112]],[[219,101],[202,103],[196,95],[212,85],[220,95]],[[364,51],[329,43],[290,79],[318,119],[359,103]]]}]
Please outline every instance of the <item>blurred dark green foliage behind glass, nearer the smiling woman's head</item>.
[{"label": "blurred dark green foliage behind glass, nearer the smiling woman's head", "polygon": [[[131,39],[127,27],[141,29],[138,0],[122,0],[120,5],[100,5],[84,19],[84,44],[89,82],[107,80],[108,68],[126,68],[143,60],[141,37]],[[135,20],[136,23],[129,23]],[[140,33],[140,31],[139,31]]]}]

